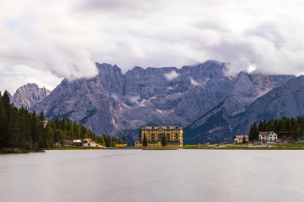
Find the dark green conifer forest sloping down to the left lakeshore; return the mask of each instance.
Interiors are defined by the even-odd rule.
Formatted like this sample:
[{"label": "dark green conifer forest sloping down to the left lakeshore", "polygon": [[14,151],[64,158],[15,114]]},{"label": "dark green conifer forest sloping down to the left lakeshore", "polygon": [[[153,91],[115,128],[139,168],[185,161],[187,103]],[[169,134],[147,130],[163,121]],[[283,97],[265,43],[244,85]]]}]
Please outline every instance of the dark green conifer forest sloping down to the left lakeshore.
[{"label": "dark green conifer forest sloping down to the left lakeshore", "polygon": [[66,140],[89,138],[106,147],[109,147],[111,142],[127,142],[126,137],[120,140],[104,134],[97,136],[91,130],[67,118],[46,120],[42,112],[37,115],[23,107],[18,109],[10,103],[7,91],[3,95],[0,92],[0,148],[40,150],[64,146]]}]

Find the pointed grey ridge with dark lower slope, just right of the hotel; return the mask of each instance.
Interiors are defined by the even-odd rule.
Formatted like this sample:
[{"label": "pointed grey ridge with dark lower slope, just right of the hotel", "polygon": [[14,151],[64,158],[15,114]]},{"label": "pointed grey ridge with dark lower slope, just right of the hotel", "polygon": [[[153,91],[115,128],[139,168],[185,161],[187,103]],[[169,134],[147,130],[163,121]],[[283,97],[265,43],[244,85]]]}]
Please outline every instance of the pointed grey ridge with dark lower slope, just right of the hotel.
[{"label": "pointed grey ridge with dark lower slope, just right of the hotel", "polygon": [[[195,143],[201,140],[217,140],[222,137],[231,138],[235,134],[247,134],[250,125],[254,121],[259,121],[259,118],[247,119],[247,115],[242,117],[241,114],[248,111],[257,98],[284,85],[291,78],[294,76],[269,76],[240,72],[234,87],[223,101],[185,128],[185,142]],[[270,118],[272,117],[270,116]],[[240,123],[244,126],[237,129]]]}]

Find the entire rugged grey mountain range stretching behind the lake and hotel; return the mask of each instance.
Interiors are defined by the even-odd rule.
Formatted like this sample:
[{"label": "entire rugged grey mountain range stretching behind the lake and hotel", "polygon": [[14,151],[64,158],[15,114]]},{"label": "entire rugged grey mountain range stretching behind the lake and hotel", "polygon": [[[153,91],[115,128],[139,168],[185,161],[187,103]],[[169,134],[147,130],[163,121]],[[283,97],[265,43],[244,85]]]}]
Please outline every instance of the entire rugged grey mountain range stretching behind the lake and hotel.
[{"label": "entire rugged grey mountain range stretching behind the lake and hotel", "polygon": [[96,77],[64,79],[51,93],[36,84],[22,86],[12,102],[129,140],[137,140],[144,125],[180,125],[185,143],[245,134],[254,121],[304,112],[303,76],[230,74],[216,61],[180,69],[136,66],[125,74],[117,65],[96,66]]}]

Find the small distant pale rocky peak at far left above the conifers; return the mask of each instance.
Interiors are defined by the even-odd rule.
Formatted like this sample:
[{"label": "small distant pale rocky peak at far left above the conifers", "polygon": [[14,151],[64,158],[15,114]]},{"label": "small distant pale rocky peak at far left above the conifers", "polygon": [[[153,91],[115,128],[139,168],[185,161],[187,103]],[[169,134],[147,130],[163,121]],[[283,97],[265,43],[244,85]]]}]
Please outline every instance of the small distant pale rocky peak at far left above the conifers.
[{"label": "small distant pale rocky peak at far left above the conifers", "polygon": [[35,83],[28,83],[16,91],[11,101],[17,108],[21,106],[30,108],[32,105],[44,100],[50,93],[51,91],[45,87],[39,88]]}]

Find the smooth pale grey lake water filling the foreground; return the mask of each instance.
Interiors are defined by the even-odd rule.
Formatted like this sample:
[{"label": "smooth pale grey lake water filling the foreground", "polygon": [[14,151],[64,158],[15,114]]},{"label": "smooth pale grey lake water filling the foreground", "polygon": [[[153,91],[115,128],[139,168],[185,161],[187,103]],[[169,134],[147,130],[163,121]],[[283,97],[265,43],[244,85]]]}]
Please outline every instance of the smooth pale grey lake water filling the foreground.
[{"label": "smooth pale grey lake water filling the foreground", "polygon": [[299,202],[303,150],[0,155],[1,202]]}]

